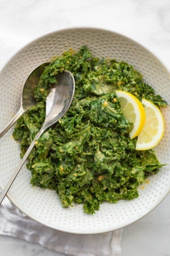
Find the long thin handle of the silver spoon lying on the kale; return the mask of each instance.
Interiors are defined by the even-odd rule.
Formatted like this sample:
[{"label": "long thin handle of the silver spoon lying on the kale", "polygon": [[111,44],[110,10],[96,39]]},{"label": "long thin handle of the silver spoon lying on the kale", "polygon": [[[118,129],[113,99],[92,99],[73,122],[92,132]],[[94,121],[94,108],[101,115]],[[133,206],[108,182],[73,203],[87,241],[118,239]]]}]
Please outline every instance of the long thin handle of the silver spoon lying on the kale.
[{"label": "long thin handle of the silver spoon lying on the kale", "polygon": [[39,132],[37,133],[36,137],[34,138],[34,140],[31,142],[29,148],[27,149],[25,155],[23,156],[18,168],[15,170],[15,172],[13,172],[12,176],[9,179],[9,182],[6,184],[6,186],[4,187],[3,191],[0,193],[0,204],[2,203],[2,201],[4,200],[4,197],[6,195],[6,193],[9,191],[10,186],[13,184],[13,181],[15,180],[15,178],[17,177],[19,171],[22,168],[22,165],[25,163],[27,157],[29,156],[31,150],[33,149],[36,140],[38,140],[40,138],[40,135],[45,131],[45,128],[42,127]]}]

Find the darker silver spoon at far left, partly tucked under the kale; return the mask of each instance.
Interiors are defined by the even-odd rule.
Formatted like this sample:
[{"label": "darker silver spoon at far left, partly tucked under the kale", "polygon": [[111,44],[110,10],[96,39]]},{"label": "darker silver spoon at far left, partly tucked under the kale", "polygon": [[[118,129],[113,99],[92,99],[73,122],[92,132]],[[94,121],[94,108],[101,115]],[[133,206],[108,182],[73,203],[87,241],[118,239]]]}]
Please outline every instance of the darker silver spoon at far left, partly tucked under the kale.
[{"label": "darker silver spoon at far left, partly tucked under the kale", "polygon": [[34,90],[40,79],[40,75],[44,71],[45,67],[49,65],[49,62],[43,63],[37,66],[27,77],[23,90],[22,97],[20,102],[20,108],[17,114],[13,117],[13,119],[8,123],[7,126],[4,127],[0,132],[0,138],[13,126],[13,124],[18,120],[23,113],[25,113],[30,107],[36,105],[36,101],[34,99]]}]

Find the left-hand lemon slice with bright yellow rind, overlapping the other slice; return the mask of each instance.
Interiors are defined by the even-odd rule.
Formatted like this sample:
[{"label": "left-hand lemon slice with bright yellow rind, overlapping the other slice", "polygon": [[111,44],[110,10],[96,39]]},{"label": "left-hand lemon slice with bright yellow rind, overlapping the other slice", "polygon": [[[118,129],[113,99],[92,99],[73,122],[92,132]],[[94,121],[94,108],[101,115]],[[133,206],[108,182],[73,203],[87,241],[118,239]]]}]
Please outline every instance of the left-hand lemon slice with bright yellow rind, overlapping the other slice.
[{"label": "left-hand lemon slice with bright yellow rind, overlapping the other slice", "polygon": [[116,91],[116,95],[120,98],[123,115],[134,125],[130,131],[130,139],[133,139],[143,129],[145,123],[144,107],[139,99],[131,93]]}]

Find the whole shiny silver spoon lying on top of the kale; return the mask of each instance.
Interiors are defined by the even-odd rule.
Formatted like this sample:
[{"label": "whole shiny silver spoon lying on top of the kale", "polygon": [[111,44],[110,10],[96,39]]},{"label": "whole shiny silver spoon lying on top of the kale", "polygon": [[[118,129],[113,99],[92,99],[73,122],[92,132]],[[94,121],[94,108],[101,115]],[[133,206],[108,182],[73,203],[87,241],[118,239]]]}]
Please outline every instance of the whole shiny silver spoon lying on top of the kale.
[{"label": "whole shiny silver spoon lying on top of the kale", "polygon": [[22,168],[22,165],[25,163],[28,155],[30,154],[32,148],[35,145],[36,140],[40,138],[40,135],[58,121],[68,110],[71,105],[72,98],[75,90],[75,81],[72,73],[70,71],[63,71],[62,73],[56,76],[58,83],[54,88],[51,89],[51,92],[46,99],[46,116],[44,124],[37,133],[35,139],[32,141],[31,145],[27,149],[25,155],[23,156],[20,165],[13,173],[9,182],[4,187],[3,191],[0,193],[0,204],[2,203],[4,196],[8,192],[10,186],[13,184],[14,179],[17,177],[18,172]]}]

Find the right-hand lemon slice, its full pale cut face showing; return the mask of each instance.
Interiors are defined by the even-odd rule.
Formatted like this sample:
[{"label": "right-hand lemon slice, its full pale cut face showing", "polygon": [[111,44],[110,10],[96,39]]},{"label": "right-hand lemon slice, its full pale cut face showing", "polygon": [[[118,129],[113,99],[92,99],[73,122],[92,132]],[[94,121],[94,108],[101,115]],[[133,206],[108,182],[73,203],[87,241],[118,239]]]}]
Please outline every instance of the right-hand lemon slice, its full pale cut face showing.
[{"label": "right-hand lemon slice, its full pale cut face showing", "polygon": [[137,150],[147,150],[155,147],[164,135],[164,119],[160,109],[152,102],[142,100],[146,121],[136,143]]}]

